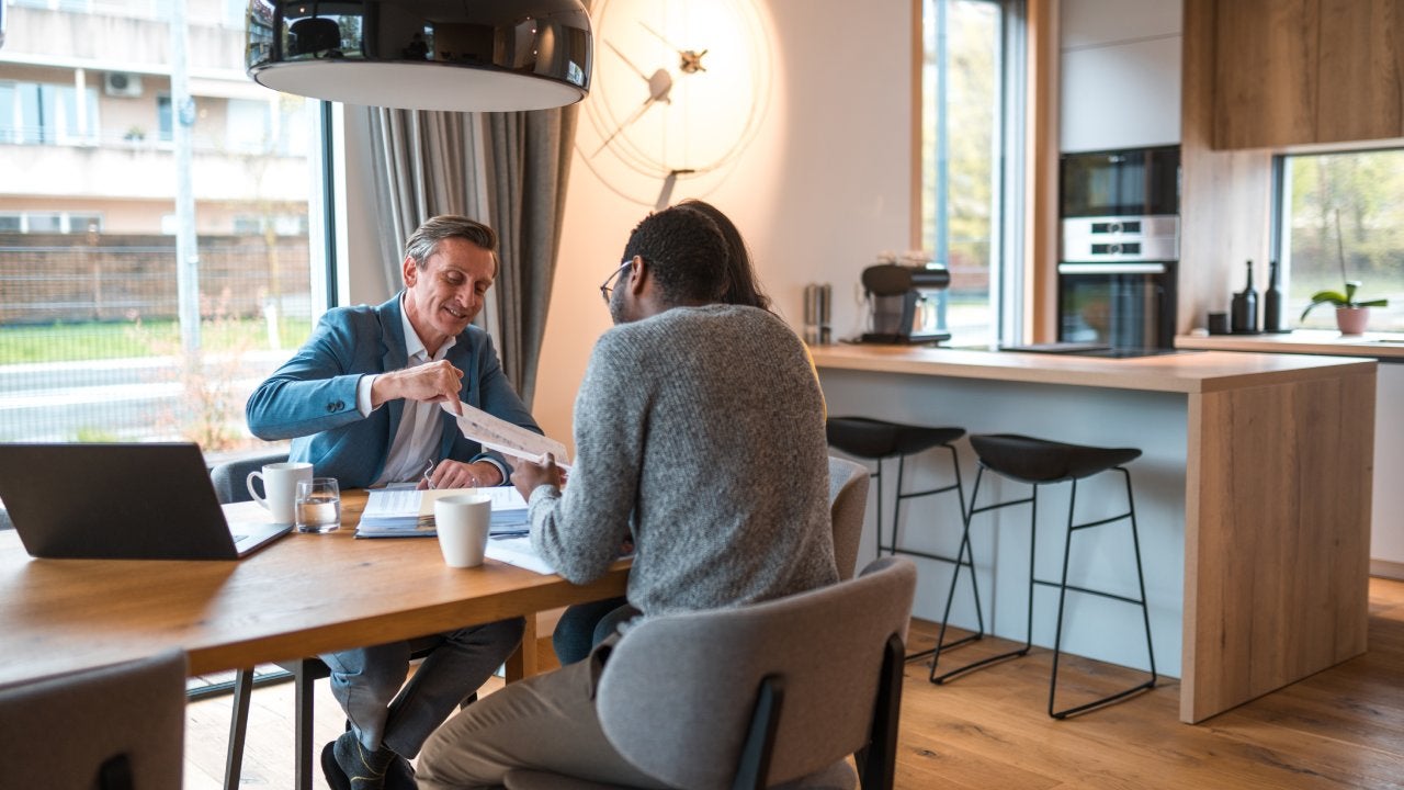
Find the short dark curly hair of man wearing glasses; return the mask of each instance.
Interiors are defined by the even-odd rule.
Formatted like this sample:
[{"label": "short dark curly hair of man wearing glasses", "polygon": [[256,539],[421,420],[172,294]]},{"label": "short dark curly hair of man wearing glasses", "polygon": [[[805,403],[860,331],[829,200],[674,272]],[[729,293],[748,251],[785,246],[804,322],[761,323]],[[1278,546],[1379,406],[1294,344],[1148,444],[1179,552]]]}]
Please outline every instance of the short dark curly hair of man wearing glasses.
[{"label": "short dark curly hair of man wearing glasses", "polygon": [[642,257],[670,305],[715,302],[730,283],[726,239],[701,211],[667,208],[643,218],[629,235],[623,260]]}]

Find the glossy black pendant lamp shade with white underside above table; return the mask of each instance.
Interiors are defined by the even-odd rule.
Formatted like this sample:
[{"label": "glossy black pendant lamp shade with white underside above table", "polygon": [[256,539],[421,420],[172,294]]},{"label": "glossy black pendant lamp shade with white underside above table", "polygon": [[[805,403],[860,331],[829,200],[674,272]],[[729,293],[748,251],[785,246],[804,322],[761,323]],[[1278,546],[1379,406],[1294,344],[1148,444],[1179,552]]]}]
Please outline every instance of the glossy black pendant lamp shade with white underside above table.
[{"label": "glossy black pendant lamp shade with white underside above table", "polygon": [[543,110],[590,90],[580,0],[250,0],[258,84],[329,101],[465,112]]}]

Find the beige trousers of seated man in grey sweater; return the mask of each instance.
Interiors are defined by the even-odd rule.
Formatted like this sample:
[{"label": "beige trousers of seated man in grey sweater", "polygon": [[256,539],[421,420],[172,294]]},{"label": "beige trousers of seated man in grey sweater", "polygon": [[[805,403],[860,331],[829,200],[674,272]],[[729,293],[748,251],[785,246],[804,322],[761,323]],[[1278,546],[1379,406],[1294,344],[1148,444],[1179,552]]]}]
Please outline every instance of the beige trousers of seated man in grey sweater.
[{"label": "beige trousers of seated man in grey sweater", "polygon": [[501,787],[514,768],[604,784],[664,787],[630,766],[595,715],[597,658],[536,675],[468,706],[420,752],[421,790]]}]

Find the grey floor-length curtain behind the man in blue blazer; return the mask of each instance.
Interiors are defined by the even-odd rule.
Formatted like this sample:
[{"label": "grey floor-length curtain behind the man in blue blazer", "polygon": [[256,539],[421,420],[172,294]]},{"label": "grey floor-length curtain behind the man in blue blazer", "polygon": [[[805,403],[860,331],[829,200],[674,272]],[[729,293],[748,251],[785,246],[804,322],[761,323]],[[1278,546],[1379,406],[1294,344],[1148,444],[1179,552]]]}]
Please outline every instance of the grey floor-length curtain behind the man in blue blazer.
[{"label": "grey floor-length curtain behind the man in blue blazer", "polygon": [[371,115],[386,285],[400,288],[404,242],[427,218],[463,214],[498,236],[494,304],[484,309],[503,371],[531,408],[576,129],[576,107],[531,112]]}]

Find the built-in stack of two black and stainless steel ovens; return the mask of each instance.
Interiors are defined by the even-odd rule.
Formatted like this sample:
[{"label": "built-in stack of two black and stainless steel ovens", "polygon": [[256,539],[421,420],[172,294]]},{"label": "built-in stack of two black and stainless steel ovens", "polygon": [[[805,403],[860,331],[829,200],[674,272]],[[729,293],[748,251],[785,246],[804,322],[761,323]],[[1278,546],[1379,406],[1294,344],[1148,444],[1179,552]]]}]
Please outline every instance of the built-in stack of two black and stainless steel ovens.
[{"label": "built-in stack of two black and stainless steel ovens", "polygon": [[1060,342],[1171,347],[1178,212],[1178,148],[1063,156]]}]

